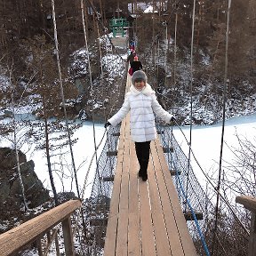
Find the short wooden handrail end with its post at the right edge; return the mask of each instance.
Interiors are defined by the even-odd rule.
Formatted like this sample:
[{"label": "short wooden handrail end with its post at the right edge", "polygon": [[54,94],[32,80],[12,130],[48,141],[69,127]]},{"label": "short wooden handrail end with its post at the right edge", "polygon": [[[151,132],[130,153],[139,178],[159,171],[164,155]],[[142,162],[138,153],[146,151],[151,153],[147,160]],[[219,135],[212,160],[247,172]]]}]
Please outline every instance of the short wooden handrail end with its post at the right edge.
[{"label": "short wooden handrail end with its post at the right edge", "polygon": [[252,196],[236,196],[236,203],[243,204],[244,208],[252,213],[248,256],[254,256],[256,252],[256,198]]}]

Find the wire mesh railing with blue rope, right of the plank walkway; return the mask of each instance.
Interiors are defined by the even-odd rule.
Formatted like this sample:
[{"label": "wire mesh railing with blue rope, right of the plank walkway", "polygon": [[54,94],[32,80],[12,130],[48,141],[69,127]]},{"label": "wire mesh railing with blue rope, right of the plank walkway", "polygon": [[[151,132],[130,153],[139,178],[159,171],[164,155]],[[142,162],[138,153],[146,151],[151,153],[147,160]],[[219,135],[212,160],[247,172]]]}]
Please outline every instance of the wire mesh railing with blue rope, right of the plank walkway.
[{"label": "wire mesh railing with blue rope, right of the plank walkway", "polygon": [[[172,173],[180,206],[198,254],[247,255],[248,233],[245,232],[240,221],[237,221],[237,216],[234,216],[230,205],[222,201],[218,228],[214,231],[215,206],[212,202],[215,202],[216,198],[215,188],[211,188],[209,184],[206,186],[206,192],[202,188],[191,164],[188,163],[188,157],[173,136],[172,127],[159,126],[158,133],[161,134],[161,142],[165,148],[164,156]],[[248,226],[248,223],[243,221],[243,215],[240,215],[239,219]],[[217,232],[214,252],[211,250],[213,232]]]}]

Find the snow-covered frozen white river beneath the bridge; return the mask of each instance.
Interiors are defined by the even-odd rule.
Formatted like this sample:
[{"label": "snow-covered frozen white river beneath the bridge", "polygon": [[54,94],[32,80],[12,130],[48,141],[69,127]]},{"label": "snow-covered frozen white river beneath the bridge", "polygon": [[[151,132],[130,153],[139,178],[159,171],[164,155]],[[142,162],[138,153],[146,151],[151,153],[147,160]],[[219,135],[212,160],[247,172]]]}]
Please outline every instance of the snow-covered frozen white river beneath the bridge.
[{"label": "snow-covered frozen white river beneath the bridge", "polygon": [[[194,126],[192,128],[192,150],[196,155],[196,159],[201,164],[202,168],[207,173],[213,173],[214,179],[217,179],[217,172],[219,170],[219,161],[220,161],[220,140],[221,140],[221,122],[219,124],[208,125],[208,126]],[[223,168],[225,168],[226,162],[232,163],[234,159],[234,155],[228,149],[228,147],[237,148],[237,139],[236,133],[238,134],[239,138],[247,138],[252,142],[255,141],[255,128],[256,128],[256,114],[251,116],[241,116],[230,119],[226,122],[225,125],[225,134],[224,134],[224,141],[225,145],[223,148]],[[189,127],[181,127],[182,131],[185,133],[186,137],[189,140]],[[96,134],[96,144],[100,143],[102,135],[105,129],[103,124],[95,124],[95,134]],[[174,127],[173,134],[176,140],[179,141],[181,148],[183,149],[185,155],[188,156],[188,145],[186,140],[184,139],[182,133],[177,127]],[[75,138],[78,138],[73,151],[76,161],[76,169],[78,170],[78,182],[79,186],[83,187],[84,185],[84,177],[85,173],[88,170],[90,161],[92,159],[92,155],[94,152],[94,140],[93,140],[93,129],[92,129],[92,122],[83,122],[83,126],[76,131]],[[227,145],[228,147],[227,147]],[[102,143],[103,146],[104,143]],[[0,142],[0,146],[8,147],[11,146],[8,144],[7,141],[2,140]],[[23,151],[27,151],[28,148],[23,148]],[[22,150],[22,148],[21,148]],[[67,151],[67,149],[66,149]],[[99,150],[100,156],[100,150]],[[35,162],[35,171],[38,175],[39,179],[44,182],[44,186],[46,188],[51,189],[50,187],[50,180],[48,178],[48,172],[46,168],[46,159],[44,157],[43,151],[35,151],[34,148],[30,148],[27,153],[27,159],[32,159]],[[191,158],[193,159],[193,158]],[[70,158],[69,154],[62,159],[63,164],[69,163]],[[52,158],[53,162],[60,162],[60,158],[54,157]],[[92,179],[94,177],[95,172],[95,160],[93,160],[92,170],[90,173],[89,183],[92,184]],[[195,161],[192,161],[192,166],[194,171],[196,172],[196,177],[200,181],[201,185],[204,187],[205,179],[200,171],[200,169],[195,164]],[[55,166],[58,168],[58,165]],[[60,168],[60,167],[59,167]],[[70,169],[70,168],[69,168]],[[67,175],[68,172],[66,171]],[[215,173],[215,174],[214,174]],[[76,191],[75,182],[71,180],[60,180],[60,175],[55,175],[56,187],[58,192],[62,191],[63,189]],[[91,192],[91,187],[88,186],[86,190],[86,196],[89,196]]]}]

